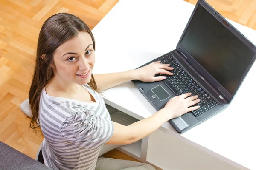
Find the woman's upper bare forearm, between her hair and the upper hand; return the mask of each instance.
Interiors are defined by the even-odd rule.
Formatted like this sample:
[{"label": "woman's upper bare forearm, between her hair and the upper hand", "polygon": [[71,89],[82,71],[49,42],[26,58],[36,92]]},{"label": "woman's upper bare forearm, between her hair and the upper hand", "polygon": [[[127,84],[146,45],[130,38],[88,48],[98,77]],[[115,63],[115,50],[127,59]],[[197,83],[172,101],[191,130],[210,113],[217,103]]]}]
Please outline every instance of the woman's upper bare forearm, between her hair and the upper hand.
[{"label": "woman's upper bare forearm, between her hair and the upper hand", "polygon": [[93,75],[99,91],[104,91],[116,85],[130,80],[134,80],[134,70],[128,70],[118,73],[96,74]]}]

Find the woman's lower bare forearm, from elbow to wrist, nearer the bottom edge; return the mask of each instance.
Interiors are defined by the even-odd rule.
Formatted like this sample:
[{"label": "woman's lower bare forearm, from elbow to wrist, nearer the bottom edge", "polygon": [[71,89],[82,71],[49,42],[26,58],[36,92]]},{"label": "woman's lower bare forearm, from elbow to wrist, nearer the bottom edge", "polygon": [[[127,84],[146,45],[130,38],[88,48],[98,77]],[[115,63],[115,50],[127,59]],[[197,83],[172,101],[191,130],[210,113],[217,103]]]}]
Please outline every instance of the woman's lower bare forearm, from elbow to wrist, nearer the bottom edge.
[{"label": "woman's lower bare forearm, from elbow to wrist, nearer the bottom edge", "polygon": [[153,133],[165,122],[167,122],[168,120],[165,116],[163,116],[164,114],[161,113],[163,111],[164,110],[160,110],[146,119],[140,120],[127,126],[128,132],[131,135],[131,143],[143,139],[145,136]]}]

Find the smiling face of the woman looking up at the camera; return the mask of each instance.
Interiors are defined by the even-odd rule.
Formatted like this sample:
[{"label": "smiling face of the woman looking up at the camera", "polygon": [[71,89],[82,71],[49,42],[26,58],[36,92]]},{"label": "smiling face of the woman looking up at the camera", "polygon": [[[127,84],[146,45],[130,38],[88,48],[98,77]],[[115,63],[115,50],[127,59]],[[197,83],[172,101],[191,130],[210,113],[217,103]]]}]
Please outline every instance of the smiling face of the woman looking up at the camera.
[{"label": "smiling face of the woman looking up at the camera", "polygon": [[85,31],[59,46],[54,53],[54,76],[62,82],[84,85],[90,82],[95,62],[93,41]]}]

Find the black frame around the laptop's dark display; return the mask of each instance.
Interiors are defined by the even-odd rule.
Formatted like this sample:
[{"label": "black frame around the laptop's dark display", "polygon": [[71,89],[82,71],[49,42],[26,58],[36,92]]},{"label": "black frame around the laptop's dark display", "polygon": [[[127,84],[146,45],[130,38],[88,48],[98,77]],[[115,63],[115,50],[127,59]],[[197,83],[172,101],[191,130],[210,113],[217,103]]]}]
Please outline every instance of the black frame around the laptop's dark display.
[{"label": "black frame around the laptop's dark display", "polygon": [[[180,42],[183,39],[187,28],[189,27],[189,24],[195,14],[196,9],[198,6],[201,5],[203,8],[205,8],[212,16],[214,16],[222,25],[224,25],[226,28],[228,28],[236,37],[238,37],[247,47],[249,47],[252,51],[255,52],[255,55],[253,59],[250,61],[250,65],[247,66],[246,70],[244,71],[244,74],[242,78],[240,79],[238,86],[233,94],[230,94],[214,77],[212,77],[208,71],[206,71],[181,45]],[[228,102],[231,102],[233,97],[235,96],[236,92],[238,91],[241,83],[243,82],[244,78],[246,77],[247,73],[249,72],[251,66],[253,65],[253,62],[256,59],[256,46],[250,42],[246,37],[244,37],[243,34],[241,34],[236,28],[234,28],[224,17],[221,16],[221,14],[218,13],[214,8],[212,8],[207,2],[204,0],[198,0],[198,3],[195,6],[195,9],[192,12],[191,17],[189,18],[189,21],[183,31],[182,36],[180,37],[180,40],[176,46],[177,51],[180,53],[186,55],[185,59],[189,62],[190,65],[192,65],[193,68],[195,68],[198,73],[201,74],[201,76],[207,80],[216,90],[220,89],[223,94],[221,94],[220,91],[218,93],[221,94],[221,96],[225,97]]]}]

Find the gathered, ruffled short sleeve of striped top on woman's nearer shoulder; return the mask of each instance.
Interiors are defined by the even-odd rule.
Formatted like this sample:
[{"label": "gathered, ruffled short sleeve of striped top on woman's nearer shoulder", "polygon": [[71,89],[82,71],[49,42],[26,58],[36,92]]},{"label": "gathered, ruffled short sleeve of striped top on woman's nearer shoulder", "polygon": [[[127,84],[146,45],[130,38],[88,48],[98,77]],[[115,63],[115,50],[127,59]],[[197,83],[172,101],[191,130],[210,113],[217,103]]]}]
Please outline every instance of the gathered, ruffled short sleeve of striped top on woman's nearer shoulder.
[{"label": "gathered, ruffled short sleeve of striped top on woman's nearer shoulder", "polygon": [[61,135],[65,139],[88,149],[95,149],[108,142],[113,131],[111,120],[102,119],[93,111],[76,112],[61,127]]}]

